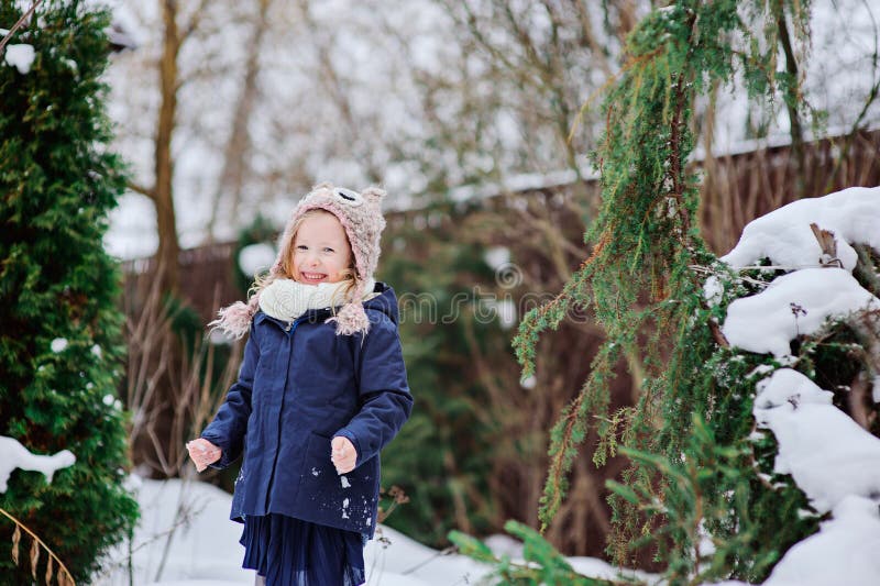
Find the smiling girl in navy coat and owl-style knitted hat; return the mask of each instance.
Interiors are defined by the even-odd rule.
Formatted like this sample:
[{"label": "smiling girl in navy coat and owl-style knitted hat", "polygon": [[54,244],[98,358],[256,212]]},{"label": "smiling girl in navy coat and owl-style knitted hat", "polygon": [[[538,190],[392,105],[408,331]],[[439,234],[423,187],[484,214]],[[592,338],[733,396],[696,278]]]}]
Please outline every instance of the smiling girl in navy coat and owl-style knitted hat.
[{"label": "smiling girl in navy coat and owl-style knitted hat", "polygon": [[394,290],[373,280],[385,192],[321,184],[294,208],[270,274],[211,325],[250,331],[238,382],[201,436],[199,472],[244,452],[231,519],[270,586],[355,586],[373,537],[378,453],[413,397]]}]

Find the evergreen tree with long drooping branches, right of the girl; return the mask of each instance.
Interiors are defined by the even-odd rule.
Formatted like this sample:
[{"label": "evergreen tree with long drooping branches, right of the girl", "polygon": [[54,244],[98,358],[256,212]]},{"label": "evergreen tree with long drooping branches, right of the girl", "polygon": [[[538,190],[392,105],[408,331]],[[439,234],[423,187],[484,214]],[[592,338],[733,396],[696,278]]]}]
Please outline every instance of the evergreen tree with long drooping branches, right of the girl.
[{"label": "evergreen tree with long drooping branches, right of the girl", "polygon": [[[527,376],[539,335],[557,328],[570,308],[588,306],[607,332],[580,395],[551,431],[539,517],[546,526],[558,511],[568,472],[595,422],[602,441],[594,460],[623,451],[631,461],[623,483],[610,483],[609,553],[631,564],[639,548],[650,546],[671,584],[761,581],[789,546],[817,528],[815,516],[803,515],[809,504],[791,478],[767,480],[776,444],[772,436],[751,434],[754,373],[779,364],[730,349],[719,334],[727,305],[755,287],[726,274],[700,237],[697,177],[686,166],[693,104],[713,84],[730,82],[738,73],[752,97],[798,95],[798,80],[776,73],[779,29],[766,23],[791,22],[803,41],[809,3],[771,4],[680,0],[637,26],[629,60],[606,97],[607,128],[594,153],[603,202],[586,234],[592,254],[554,301],[526,317],[515,341]],[[728,287],[718,305],[706,302],[706,273],[725,275]],[[847,372],[828,379],[840,384],[853,374],[839,366],[844,347],[839,340],[805,342],[802,365],[836,364],[837,373],[828,373]],[[609,383],[625,353],[645,357],[644,390],[638,405],[612,412]],[[574,579],[562,577],[566,570],[559,570],[539,534],[517,534],[534,564],[502,560],[499,575],[529,584]],[[451,539],[486,559],[479,543]]]}]

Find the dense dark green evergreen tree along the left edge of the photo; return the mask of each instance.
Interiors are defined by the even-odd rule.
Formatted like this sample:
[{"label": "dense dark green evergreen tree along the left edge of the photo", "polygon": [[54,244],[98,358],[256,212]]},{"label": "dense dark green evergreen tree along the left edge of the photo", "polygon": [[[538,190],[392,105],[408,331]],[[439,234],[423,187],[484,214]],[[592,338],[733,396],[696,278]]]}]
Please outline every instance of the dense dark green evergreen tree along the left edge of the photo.
[{"label": "dense dark green evergreen tree along the left edge of the photo", "polygon": [[[11,29],[23,4],[2,0],[0,24]],[[108,25],[91,3],[47,0],[0,55],[15,44],[34,51],[26,73],[0,60],[0,435],[76,456],[51,484],[15,471],[0,507],[77,582],[138,515],[122,487],[120,274],[101,243],[124,186],[120,159],[106,151]],[[13,529],[0,519],[0,583],[30,584],[30,564],[11,559]],[[45,560],[35,575],[46,576]]]}]

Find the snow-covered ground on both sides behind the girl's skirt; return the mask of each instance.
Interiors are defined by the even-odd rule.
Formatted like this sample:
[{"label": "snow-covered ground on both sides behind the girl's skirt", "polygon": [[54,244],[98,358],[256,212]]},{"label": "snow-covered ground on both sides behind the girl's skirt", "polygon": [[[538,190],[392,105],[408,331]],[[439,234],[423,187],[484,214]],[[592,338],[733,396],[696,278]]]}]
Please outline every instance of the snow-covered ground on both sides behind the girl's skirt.
[{"label": "snow-covered ground on both sides behind the girl's skirt", "polygon": [[[131,544],[110,552],[101,586],[231,586],[253,584],[242,570],[241,526],[229,520],[232,497],[199,480],[147,480],[132,477],[141,521]],[[179,511],[179,512],[178,512]],[[388,527],[380,526],[365,552],[367,584],[382,586],[452,586],[474,584],[488,571],[458,554],[443,555]],[[504,537],[492,542],[515,548]],[[133,581],[129,579],[129,549]],[[590,561],[584,561],[588,563]],[[598,567],[602,562],[593,561]]]}]

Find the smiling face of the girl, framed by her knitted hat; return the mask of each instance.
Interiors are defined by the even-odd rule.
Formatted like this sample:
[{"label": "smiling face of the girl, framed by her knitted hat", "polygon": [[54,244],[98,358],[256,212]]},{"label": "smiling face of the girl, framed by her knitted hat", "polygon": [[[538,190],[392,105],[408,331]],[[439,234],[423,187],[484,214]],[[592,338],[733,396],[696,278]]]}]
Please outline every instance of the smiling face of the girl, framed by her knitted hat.
[{"label": "smiling face of the girl, framed by her knitted hat", "polygon": [[339,283],[351,267],[345,230],[329,212],[309,215],[294,237],[294,279],[307,285]]}]

